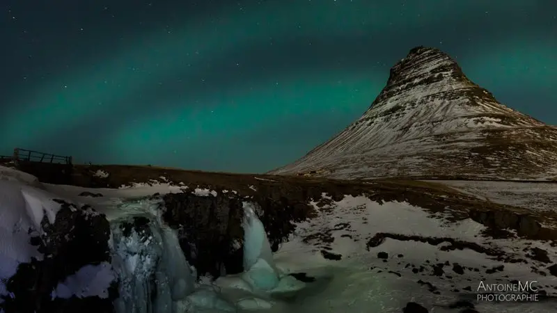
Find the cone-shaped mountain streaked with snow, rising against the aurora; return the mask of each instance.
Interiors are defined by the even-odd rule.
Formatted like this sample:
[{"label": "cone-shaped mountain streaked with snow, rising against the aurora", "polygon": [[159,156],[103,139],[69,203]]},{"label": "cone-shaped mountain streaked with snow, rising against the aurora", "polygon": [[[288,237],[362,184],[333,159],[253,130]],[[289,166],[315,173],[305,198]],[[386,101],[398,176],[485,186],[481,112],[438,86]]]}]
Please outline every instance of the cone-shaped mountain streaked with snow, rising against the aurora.
[{"label": "cone-shaped mountain streaked with snow, rising against the aurora", "polygon": [[439,49],[416,47],[359,120],[269,172],[339,179],[557,177],[557,128],[497,102]]}]

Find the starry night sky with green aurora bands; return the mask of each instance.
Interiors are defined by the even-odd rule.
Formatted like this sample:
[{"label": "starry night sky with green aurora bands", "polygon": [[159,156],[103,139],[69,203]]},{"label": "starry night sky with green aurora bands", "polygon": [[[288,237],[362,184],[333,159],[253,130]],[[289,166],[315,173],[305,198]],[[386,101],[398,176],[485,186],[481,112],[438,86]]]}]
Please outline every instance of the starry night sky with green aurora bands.
[{"label": "starry night sky with green aurora bands", "polygon": [[555,0],[3,0],[0,154],[265,172],[366,111],[438,47],[557,124]]}]

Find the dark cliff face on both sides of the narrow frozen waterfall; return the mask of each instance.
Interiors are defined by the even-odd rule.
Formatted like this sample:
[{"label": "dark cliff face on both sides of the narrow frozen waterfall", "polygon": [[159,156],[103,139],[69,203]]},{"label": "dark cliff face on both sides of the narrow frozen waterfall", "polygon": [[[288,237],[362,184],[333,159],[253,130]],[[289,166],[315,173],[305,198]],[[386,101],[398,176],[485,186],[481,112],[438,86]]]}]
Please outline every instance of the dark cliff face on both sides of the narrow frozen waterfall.
[{"label": "dark cliff face on both sides of the narrow frozen waterfall", "polygon": [[164,221],[178,230],[180,246],[198,275],[209,273],[217,278],[224,273],[244,271],[244,201],[256,206],[273,251],[288,240],[295,223],[313,216],[308,201],[318,198],[322,191],[315,190],[311,195],[304,189],[292,189],[288,195],[273,188],[258,191],[253,196],[222,192],[216,196],[168,193],[162,196],[164,208],[161,209]]}]

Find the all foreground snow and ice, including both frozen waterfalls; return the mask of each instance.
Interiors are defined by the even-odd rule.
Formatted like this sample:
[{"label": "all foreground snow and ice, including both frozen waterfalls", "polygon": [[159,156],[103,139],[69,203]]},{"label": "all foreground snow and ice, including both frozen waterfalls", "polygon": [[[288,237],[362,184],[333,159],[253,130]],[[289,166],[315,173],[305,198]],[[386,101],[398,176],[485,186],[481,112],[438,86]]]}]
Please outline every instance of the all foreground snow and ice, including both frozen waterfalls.
[{"label": "all foreground snow and ice, including both frozen waterfalls", "polygon": [[[37,253],[25,248],[23,237],[12,235],[18,220],[36,223],[42,210],[33,208],[46,209],[52,218],[56,210],[49,209],[49,198],[54,196],[97,204],[113,223],[111,247],[118,262],[111,264],[111,273],[125,278],[125,288],[120,289],[123,296],[116,303],[118,312],[127,312],[134,303],[141,305],[150,292],[148,275],[155,270],[162,275],[157,276],[157,283],[162,284],[158,290],[165,290],[166,300],[151,305],[172,312],[389,313],[402,312],[407,303],[416,302],[429,312],[457,313],[464,309],[454,308],[461,300],[483,313],[538,313],[554,312],[557,305],[541,294],[542,289],[549,296],[557,291],[556,277],[548,269],[557,261],[557,250],[549,243],[485,237],[484,226],[473,220],[449,221],[443,214],[406,202],[379,204],[352,195],[334,201],[322,194],[311,202],[317,217],[298,223],[290,240],[274,254],[254,204],[244,202],[246,272],[194,283],[195,269],[185,261],[176,234],[160,219],[157,200],[139,198],[171,192],[213,196],[216,191],[168,184],[120,189],[29,186],[36,184],[32,177],[3,173],[12,179],[0,179],[0,275],[13,275],[17,262],[26,262]],[[84,195],[85,191],[95,196]],[[141,232],[120,232],[116,223],[133,216],[147,217],[151,223]],[[535,251],[547,252],[549,262],[533,259]],[[84,268],[56,287],[53,295],[86,296],[72,290],[83,286],[106,291],[110,276],[105,275],[105,265]],[[486,293],[482,286],[516,287],[528,282],[540,289],[538,302],[478,300],[478,294]],[[95,283],[103,288],[92,286]]]}]

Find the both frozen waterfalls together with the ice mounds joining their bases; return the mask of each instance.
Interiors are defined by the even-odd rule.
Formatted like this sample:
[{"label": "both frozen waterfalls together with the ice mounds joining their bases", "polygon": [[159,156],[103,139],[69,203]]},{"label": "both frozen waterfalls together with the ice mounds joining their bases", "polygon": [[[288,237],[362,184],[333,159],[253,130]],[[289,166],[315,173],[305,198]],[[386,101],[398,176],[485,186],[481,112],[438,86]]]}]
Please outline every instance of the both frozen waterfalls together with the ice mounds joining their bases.
[{"label": "both frozen waterfalls together with the ice mounds joining their bases", "polygon": [[162,220],[162,204],[128,200],[107,212],[112,266],[119,280],[117,313],[266,310],[274,303],[273,292],[303,287],[290,275],[281,277],[265,227],[250,202],[243,205],[244,273],[222,278],[226,286],[217,284],[219,280],[196,282],[196,270],[185,259],[177,232]]}]

